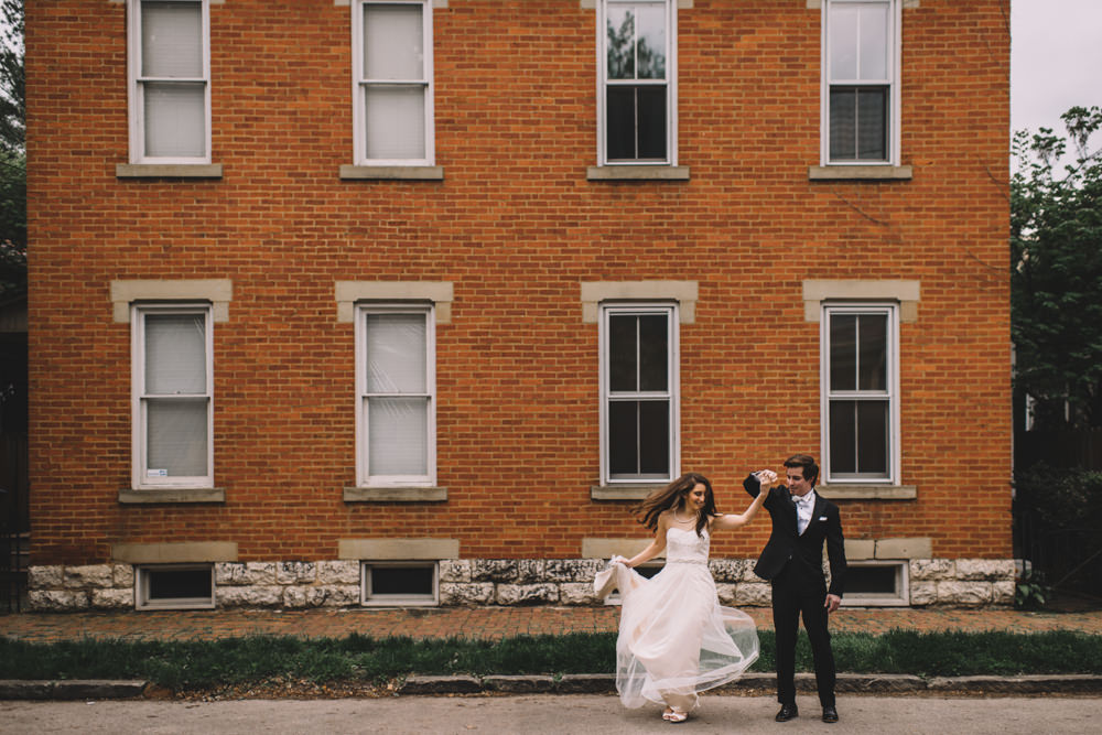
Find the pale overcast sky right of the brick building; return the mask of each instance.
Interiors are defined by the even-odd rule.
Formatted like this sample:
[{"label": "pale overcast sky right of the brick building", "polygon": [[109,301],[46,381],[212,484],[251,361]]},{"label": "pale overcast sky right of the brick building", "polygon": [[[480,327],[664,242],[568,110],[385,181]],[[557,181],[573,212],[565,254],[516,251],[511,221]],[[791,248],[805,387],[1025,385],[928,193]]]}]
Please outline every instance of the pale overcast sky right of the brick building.
[{"label": "pale overcast sky right of the brick building", "polygon": [[1077,105],[1102,107],[1102,0],[1011,0],[1011,129],[1062,133]]}]

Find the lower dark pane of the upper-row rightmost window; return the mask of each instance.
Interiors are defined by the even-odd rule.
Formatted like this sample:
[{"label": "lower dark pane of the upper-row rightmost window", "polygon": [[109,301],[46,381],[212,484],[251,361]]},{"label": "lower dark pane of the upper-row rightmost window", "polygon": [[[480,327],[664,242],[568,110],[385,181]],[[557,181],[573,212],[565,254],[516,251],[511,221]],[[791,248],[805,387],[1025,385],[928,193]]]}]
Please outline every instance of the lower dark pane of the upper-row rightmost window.
[{"label": "lower dark pane of the upper-row rightmost window", "polygon": [[831,87],[830,160],[886,161],[887,87]]}]

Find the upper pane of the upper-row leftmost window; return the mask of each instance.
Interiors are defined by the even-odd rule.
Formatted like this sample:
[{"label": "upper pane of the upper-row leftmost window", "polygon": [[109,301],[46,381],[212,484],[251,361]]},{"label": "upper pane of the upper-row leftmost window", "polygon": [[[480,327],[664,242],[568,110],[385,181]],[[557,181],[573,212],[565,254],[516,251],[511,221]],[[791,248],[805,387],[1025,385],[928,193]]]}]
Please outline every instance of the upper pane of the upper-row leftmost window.
[{"label": "upper pane of the upper-row leftmost window", "polygon": [[141,75],[203,77],[203,6],[198,2],[143,2]]}]

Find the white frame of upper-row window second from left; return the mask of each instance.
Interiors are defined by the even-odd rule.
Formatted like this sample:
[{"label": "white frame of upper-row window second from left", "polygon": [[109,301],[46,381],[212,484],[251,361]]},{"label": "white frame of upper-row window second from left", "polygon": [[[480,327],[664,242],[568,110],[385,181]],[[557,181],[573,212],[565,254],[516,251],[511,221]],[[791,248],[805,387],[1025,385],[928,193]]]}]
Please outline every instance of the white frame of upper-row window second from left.
[{"label": "white frame of upper-row window second from left", "polygon": [[[352,123],[353,123],[353,156],[356,165],[365,166],[431,166],[435,165],[436,136],[433,83],[432,53],[432,0],[354,0],[352,3]],[[421,79],[365,79],[364,78],[364,7],[377,6],[420,6],[422,48],[424,63]],[[367,120],[364,112],[368,84],[393,84],[424,86],[424,158],[423,159],[369,159],[367,156]]]}]

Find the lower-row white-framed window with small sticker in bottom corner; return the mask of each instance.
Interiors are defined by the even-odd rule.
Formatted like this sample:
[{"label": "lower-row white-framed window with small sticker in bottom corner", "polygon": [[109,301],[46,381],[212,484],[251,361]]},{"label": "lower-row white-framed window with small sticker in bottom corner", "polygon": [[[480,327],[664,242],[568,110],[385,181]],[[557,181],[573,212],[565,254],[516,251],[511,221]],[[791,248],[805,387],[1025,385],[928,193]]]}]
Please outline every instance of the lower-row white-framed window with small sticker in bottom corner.
[{"label": "lower-row white-framed window with small sticker in bottom corner", "polygon": [[131,309],[133,486],[214,487],[210,305]]}]

